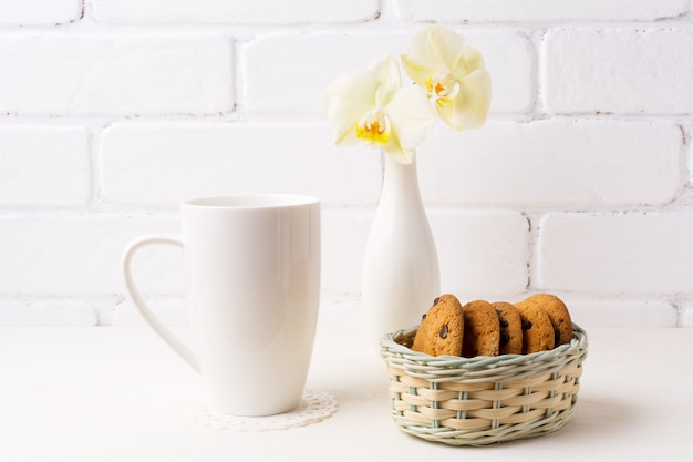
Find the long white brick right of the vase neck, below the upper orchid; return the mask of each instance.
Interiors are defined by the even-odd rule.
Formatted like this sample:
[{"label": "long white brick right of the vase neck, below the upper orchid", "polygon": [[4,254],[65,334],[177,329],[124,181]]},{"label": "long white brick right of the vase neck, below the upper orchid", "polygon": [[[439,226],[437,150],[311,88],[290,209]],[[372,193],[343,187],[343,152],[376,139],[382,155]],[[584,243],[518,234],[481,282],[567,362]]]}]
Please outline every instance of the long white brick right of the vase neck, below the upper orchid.
[{"label": "long white brick right of the vase neck, below the upper orchid", "polygon": [[674,123],[490,122],[462,137],[441,129],[418,153],[432,206],[610,209],[664,205],[684,187]]}]

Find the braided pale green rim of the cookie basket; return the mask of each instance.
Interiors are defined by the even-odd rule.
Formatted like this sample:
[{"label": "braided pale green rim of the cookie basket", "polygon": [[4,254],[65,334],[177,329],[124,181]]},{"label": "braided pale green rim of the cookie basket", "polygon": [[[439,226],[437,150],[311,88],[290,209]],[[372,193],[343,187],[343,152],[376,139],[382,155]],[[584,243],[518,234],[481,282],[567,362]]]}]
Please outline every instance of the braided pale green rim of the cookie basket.
[{"label": "braided pale green rim of the cookie basket", "polygon": [[572,340],[560,345],[551,350],[538,351],[527,355],[501,355],[497,357],[474,357],[465,358],[461,356],[431,356],[399,343],[397,340],[416,333],[418,326],[408,329],[387,333],[381,339],[381,356],[384,360],[396,358],[397,362],[420,368],[443,368],[443,369],[497,369],[514,367],[530,362],[550,362],[558,357],[571,356],[579,350],[587,350],[587,332],[576,322],[572,322]]}]

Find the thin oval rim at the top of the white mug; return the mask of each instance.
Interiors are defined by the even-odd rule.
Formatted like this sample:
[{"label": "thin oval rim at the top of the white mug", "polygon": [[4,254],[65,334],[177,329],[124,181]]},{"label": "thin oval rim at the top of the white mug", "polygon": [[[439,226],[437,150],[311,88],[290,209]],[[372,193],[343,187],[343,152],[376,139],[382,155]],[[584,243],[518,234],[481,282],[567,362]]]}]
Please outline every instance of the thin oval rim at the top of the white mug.
[{"label": "thin oval rim at the top of the white mug", "polygon": [[196,208],[256,209],[296,207],[319,203],[318,197],[303,194],[251,193],[194,197],[183,202],[182,205]]}]

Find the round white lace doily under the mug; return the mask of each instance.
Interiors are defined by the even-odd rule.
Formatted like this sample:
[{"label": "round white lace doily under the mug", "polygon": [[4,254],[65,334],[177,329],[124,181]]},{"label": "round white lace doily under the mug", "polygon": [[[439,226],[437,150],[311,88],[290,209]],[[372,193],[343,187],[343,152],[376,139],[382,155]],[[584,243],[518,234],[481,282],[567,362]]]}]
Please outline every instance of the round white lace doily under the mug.
[{"label": "round white lace doily under the mug", "polygon": [[299,405],[289,412],[267,417],[236,417],[200,402],[192,411],[193,420],[217,430],[267,431],[283,430],[324,420],[337,412],[337,400],[324,391],[304,390]]}]

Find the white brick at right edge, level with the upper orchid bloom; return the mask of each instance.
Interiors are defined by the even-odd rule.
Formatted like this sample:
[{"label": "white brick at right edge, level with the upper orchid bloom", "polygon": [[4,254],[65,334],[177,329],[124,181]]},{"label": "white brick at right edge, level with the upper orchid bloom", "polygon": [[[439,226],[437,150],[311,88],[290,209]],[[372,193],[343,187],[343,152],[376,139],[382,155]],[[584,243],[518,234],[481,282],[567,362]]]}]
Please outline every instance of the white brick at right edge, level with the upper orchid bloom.
[{"label": "white brick at right edge, level with the upper orchid bloom", "polygon": [[691,24],[551,30],[544,43],[548,111],[687,115],[693,60],[684,50],[692,48]]}]

